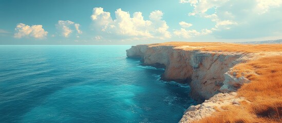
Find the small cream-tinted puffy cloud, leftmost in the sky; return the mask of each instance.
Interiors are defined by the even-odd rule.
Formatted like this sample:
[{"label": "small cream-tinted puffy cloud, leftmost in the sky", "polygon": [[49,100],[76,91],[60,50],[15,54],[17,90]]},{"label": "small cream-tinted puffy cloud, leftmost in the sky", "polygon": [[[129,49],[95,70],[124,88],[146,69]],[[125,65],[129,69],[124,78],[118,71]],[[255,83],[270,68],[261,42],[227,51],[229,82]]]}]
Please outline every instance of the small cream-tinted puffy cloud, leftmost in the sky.
[{"label": "small cream-tinted puffy cloud, leftmost in the sky", "polygon": [[14,34],[15,38],[22,38],[22,37],[44,38],[48,34],[48,32],[42,28],[42,25],[32,25],[30,27],[23,23],[17,24],[15,31],[16,31],[16,33]]}]

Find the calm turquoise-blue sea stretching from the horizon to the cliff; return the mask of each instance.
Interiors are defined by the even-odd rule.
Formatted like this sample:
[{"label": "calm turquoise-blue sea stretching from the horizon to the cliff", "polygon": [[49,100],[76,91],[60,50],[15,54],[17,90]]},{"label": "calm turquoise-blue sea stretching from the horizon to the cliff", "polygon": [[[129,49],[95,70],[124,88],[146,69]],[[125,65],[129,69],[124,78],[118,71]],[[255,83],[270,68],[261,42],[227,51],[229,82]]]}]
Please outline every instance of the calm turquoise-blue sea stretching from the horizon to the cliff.
[{"label": "calm turquoise-blue sea stretching from the horizon to the cliff", "polygon": [[130,46],[0,46],[0,122],[178,122],[189,86]]}]

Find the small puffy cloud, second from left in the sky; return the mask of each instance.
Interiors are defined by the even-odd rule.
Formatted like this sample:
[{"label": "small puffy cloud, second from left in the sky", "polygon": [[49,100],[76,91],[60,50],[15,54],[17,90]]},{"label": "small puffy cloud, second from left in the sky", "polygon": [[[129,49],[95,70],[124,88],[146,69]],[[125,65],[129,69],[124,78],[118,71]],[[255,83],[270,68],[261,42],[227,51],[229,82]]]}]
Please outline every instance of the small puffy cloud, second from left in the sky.
[{"label": "small puffy cloud, second from left in the sky", "polygon": [[71,22],[70,20],[59,20],[56,25],[57,29],[60,31],[61,35],[64,37],[69,37],[73,30],[76,29],[78,34],[81,34],[82,31],[79,29],[80,24]]}]

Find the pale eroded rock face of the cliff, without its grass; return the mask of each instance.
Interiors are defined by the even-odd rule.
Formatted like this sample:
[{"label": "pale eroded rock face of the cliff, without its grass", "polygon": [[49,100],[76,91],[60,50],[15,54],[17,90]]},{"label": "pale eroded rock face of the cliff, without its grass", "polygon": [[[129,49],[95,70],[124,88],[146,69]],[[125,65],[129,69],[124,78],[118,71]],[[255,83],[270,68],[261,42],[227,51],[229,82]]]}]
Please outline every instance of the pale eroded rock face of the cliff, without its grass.
[{"label": "pale eroded rock face of the cliff, without its grass", "polygon": [[[234,65],[244,61],[245,55],[242,53],[183,50],[174,46],[137,45],[126,50],[126,54],[128,57],[140,57],[143,65],[164,67],[165,72],[161,78],[163,80],[190,84],[191,96],[199,103],[203,103],[204,100],[209,102],[208,99],[213,96],[222,97],[224,100],[225,96],[219,96],[220,94],[234,92],[243,83],[249,82],[245,77],[236,78],[236,73],[230,73]],[[216,103],[216,101],[211,102]],[[209,104],[200,110],[193,107],[188,109],[181,122],[202,118],[198,116],[197,112],[207,111],[208,113],[200,115],[210,116],[215,109],[212,107],[214,104]]]}]

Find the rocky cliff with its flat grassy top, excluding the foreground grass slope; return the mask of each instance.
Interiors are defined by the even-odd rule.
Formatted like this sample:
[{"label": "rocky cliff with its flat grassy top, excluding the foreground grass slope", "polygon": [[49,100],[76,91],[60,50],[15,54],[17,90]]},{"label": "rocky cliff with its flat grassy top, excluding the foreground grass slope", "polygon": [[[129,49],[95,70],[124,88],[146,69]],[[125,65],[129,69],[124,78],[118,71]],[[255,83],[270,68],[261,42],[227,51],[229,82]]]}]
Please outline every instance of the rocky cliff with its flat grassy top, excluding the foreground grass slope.
[{"label": "rocky cliff with its flat grassy top, excluding the foreground grass slope", "polygon": [[[245,47],[250,49],[246,45],[225,43],[172,42],[132,46],[126,54],[140,57],[143,65],[165,68],[163,80],[190,85],[191,96],[200,105],[189,107],[180,122],[191,122],[211,116],[222,106],[240,105],[238,102],[243,100],[249,102],[235,93],[243,84],[250,83],[244,75],[238,76],[233,70],[235,65],[262,56],[282,54],[279,51],[261,55],[256,47],[263,46],[252,47],[252,51],[244,50]],[[278,47],[278,50],[282,49]]]}]

